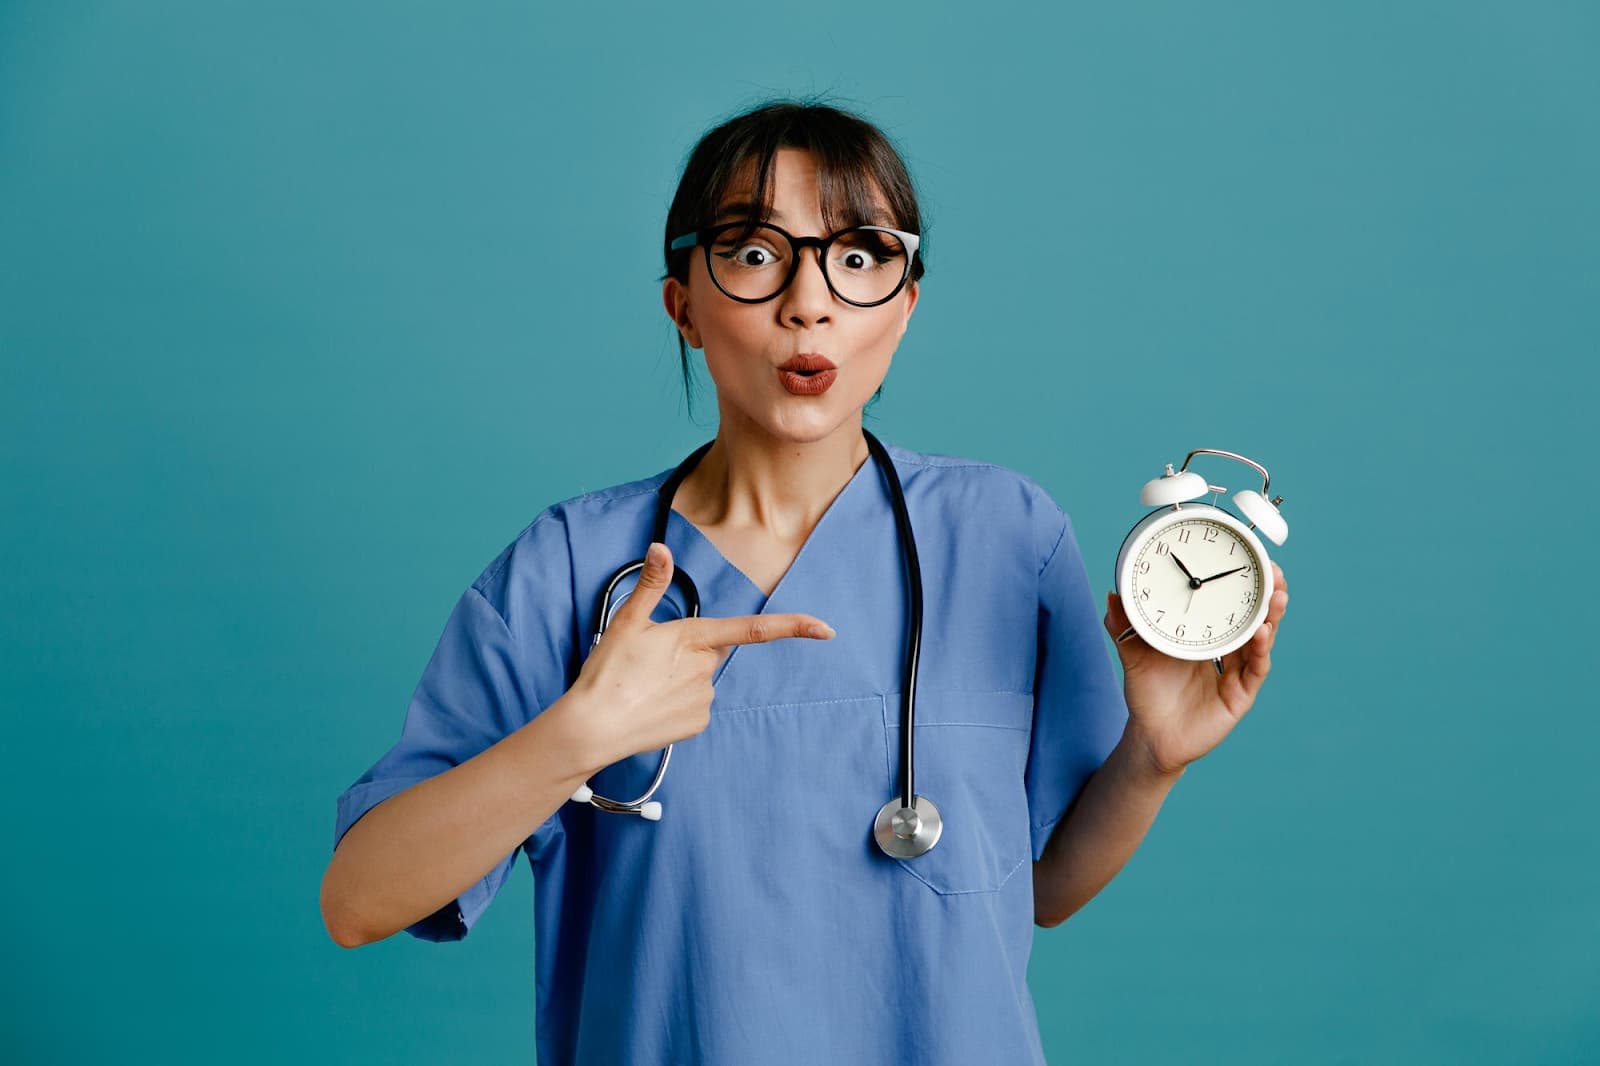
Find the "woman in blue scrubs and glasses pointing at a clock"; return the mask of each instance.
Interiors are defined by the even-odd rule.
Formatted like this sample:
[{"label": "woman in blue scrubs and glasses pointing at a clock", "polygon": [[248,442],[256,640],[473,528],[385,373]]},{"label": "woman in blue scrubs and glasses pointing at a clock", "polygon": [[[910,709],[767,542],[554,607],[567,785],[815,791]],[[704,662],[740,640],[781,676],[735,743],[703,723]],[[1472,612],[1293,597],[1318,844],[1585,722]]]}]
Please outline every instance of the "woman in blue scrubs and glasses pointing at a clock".
[{"label": "woman in blue scrubs and glasses pointing at a clock", "polygon": [[[664,251],[717,437],[546,509],[466,591],[400,741],[339,797],[328,928],[461,938],[522,850],[541,1063],[1043,1061],[1034,925],[1099,892],[1248,711],[1282,571],[1221,675],[1133,637],[1118,685],[1038,485],[864,432],[923,262],[906,168],[858,117],[784,102],[712,130]],[[1115,595],[1099,621],[1128,627]],[[931,804],[907,813],[909,690]],[[568,802],[642,795],[672,743],[659,818]]]}]

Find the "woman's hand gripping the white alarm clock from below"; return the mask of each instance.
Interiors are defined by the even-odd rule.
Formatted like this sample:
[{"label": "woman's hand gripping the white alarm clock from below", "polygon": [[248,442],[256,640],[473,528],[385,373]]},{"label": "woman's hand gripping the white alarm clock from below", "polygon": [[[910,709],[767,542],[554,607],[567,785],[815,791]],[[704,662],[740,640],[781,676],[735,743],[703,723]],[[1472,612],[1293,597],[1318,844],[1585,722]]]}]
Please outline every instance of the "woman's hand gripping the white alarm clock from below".
[{"label": "woman's hand gripping the white alarm clock from below", "polygon": [[[1139,634],[1117,645],[1128,727],[1158,773],[1178,773],[1216,747],[1256,701],[1272,669],[1272,645],[1290,603],[1283,568],[1272,563],[1272,573],[1267,619],[1245,647],[1222,656],[1221,674],[1211,659],[1192,663],[1162,655]],[[1106,631],[1115,640],[1126,632],[1128,615],[1115,592],[1106,594]]]}]

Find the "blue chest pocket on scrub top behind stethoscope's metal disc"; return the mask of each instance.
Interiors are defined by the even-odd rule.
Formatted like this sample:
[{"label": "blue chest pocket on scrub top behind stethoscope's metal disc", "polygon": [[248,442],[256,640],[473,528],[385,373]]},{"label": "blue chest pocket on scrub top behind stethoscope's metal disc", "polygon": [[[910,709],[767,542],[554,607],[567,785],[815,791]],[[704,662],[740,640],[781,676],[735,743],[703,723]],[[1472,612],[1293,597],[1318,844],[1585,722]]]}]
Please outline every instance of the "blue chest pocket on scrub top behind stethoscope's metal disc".
[{"label": "blue chest pocket on scrub top behind stethoscope's metal disc", "polygon": [[[944,832],[931,852],[893,860],[939,895],[997,892],[1027,866],[1029,731],[1034,696],[917,687],[917,794],[939,808]],[[883,797],[901,784],[901,693],[883,696],[888,762]]]}]

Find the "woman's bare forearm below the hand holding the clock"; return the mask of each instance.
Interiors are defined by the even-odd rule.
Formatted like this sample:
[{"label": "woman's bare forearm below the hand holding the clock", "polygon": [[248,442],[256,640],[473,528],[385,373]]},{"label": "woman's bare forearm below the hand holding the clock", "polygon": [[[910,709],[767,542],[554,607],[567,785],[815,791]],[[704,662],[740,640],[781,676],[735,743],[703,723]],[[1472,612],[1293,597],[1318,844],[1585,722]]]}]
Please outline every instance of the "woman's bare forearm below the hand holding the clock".
[{"label": "woman's bare forearm below the hand holding the clock", "polygon": [[1133,725],[1083,784],[1034,863],[1034,920],[1053,927],[1110,884],[1150,831],[1173,783],[1147,759]]}]

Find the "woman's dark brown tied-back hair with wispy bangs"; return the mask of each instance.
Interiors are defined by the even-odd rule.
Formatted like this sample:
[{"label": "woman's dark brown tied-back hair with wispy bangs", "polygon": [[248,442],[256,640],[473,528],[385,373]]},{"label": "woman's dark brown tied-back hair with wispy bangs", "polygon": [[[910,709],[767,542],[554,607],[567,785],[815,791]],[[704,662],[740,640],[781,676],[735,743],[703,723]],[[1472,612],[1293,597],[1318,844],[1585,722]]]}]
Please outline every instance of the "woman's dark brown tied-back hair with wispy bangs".
[{"label": "woman's dark brown tied-back hair with wispy bangs", "polygon": [[[750,200],[773,205],[771,170],[781,147],[805,149],[816,157],[818,195],[822,222],[829,232],[869,222],[888,224],[922,234],[917,192],[899,152],[875,125],[838,107],[821,102],[779,99],[723,122],[699,139],[690,152],[678,190],[667,210],[661,238],[667,262],[666,280],[690,280],[694,248],[672,251],[672,240],[715,222],[717,208],[736,184],[752,184]],[[754,171],[754,179],[752,179]],[[882,194],[890,219],[882,219],[874,192]],[[926,248],[926,235],[923,235]],[[923,274],[922,250],[912,258],[910,280]],[[690,347],[678,335],[678,362],[683,368],[683,395],[694,416]],[[883,387],[872,394],[870,408]]]}]

